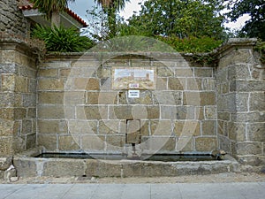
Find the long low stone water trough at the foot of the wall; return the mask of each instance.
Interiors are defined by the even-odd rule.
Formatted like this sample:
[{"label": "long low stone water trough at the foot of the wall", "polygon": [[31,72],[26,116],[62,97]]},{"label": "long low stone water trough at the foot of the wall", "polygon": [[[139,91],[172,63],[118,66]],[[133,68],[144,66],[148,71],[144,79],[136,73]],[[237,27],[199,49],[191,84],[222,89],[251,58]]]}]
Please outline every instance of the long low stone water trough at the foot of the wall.
[{"label": "long low stone water trough at the foot of the wall", "polygon": [[[49,156],[48,156],[49,155]],[[52,155],[52,156],[50,156]],[[226,155],[223,160],[216,160],[201,154],[196,157],[186,155],[178,161],[148,159],[128,159],[122,154],[95,155],[68,153],[50,153],[40,147],[16,155],[13,164],[19,177],[159,177],[221,172],[239,172],[239,163]],[[47,157],[48,156],[48,157]],[[169,155],[166,155],[169,157]],[[161,154],[156,157],[163,157]],[[172,154],[170,154],[172,157]]]}]

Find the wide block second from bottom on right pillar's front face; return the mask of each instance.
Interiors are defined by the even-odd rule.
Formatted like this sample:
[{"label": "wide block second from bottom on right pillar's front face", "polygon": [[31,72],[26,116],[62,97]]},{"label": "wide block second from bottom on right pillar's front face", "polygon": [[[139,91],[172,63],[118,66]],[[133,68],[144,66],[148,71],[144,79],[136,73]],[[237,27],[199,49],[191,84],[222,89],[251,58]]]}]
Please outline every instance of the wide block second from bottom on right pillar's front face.
[{"label": "wide block second from bottom on right pillar's front face", "polygon": [[235,155],[261,155],[261,142],[232,142],[232,154]]}]

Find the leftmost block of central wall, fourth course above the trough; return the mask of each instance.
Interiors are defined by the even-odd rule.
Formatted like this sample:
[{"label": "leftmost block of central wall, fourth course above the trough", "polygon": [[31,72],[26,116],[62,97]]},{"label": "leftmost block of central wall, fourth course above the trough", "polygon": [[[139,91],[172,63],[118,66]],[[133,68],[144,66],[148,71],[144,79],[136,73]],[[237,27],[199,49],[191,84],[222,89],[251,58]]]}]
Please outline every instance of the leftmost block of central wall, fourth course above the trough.
[{"label": "leftmost block of central wall, fourth course above the trough", "polygon": [[38,92],[39,104],[64,104],[64,92]]}]

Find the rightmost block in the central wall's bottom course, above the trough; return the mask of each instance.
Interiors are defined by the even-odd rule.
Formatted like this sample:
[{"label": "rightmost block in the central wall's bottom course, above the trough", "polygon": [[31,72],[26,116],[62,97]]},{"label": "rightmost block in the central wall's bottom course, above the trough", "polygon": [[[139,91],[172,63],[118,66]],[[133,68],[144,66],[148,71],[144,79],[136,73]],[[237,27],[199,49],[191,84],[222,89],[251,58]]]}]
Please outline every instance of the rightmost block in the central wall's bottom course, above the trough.
[{"label": "rightmost block in the central wall's bottom course, above the trough", "polygon": [[195,149],[201,152],[217,149],[216,137],[198,137],[195,139]]}]

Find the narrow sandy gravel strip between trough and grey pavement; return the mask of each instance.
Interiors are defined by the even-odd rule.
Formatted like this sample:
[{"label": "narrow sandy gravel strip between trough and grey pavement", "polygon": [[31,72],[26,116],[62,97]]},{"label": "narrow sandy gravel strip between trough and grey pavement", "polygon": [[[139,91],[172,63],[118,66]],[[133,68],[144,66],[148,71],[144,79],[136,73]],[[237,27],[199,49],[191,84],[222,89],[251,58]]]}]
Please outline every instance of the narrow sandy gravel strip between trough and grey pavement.
[{"label": "narrow sandy gravel strip between trough and grey pavement", "polygon": [[14,182],[5,182],[0,180],[0,183],[12,184],[65,184],[65,183],[117,183],[117,184],[132,184],[132,183],[225,183],[225,182],[256,182],[265,181],[264,173],[256,172],[225,172],[220,174],[209,175],[189,175],[178,177],[159,177],[159,178],[88,178],[88,177],[68,177],[68,178],[52,178],[52,177],[34,177],[34,178],[19,178]]}]

